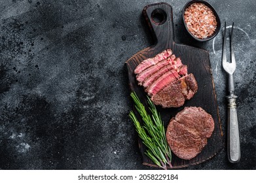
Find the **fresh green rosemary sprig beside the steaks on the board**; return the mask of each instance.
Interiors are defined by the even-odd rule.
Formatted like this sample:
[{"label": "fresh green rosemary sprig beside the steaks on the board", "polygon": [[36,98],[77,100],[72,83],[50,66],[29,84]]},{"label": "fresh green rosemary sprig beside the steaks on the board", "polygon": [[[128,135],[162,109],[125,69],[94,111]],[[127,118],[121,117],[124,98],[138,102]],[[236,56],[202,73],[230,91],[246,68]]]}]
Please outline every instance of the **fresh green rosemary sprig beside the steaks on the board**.
[{"label": "fresh green rosemary sprig beside the steaks on the board", "polygon": [[135,92],[131,93],[131,97],[135,103],[137,112],[139,112],[144,122],[143,125],[141,125],[134,112],[130,112],[129,116],[136,126],[136,131],[142,139],[143,144],[148,148],[145,154],[149,156],[156,165],[163,169],[167,169],[166,164],[172,167],[172,152],[166,141],[164,123],[161,120],[160,113],[157,112],[155,105],[149,97],[147,97],[147,102],[149,103],[151,115],[147,113]]}]

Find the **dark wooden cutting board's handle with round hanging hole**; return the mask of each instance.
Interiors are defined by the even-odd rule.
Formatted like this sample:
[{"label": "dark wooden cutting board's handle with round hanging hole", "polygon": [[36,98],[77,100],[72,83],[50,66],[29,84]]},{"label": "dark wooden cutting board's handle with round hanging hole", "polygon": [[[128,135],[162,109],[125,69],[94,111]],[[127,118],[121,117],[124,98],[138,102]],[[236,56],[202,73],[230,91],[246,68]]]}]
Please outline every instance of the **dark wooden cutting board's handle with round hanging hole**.
[{"label": "dark wooden cutting board's handle with round hanging hole", "polygon": [[143,14],[160,50],[173,48],[174,21],[172,7],[168,3],[155,3],[143,8]]}]

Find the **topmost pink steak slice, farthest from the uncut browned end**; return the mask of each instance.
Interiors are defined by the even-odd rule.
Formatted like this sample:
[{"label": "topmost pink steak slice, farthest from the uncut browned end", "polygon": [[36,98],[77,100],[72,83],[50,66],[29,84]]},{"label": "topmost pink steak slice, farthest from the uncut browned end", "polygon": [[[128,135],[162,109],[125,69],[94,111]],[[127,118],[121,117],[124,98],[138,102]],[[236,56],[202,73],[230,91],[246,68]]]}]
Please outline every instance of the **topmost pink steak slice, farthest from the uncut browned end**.
[{"label": "topmost pink steak slice, farthest from the uncut browned end", "polygon": [[162,61],[163,59],[166,59],[172,55],[172,50],[167,49],[164,50],[162,53],[157,54],[154,58],[149,58],[141,61],[139,65],[137,65],[136,69],[134,70],[135,74],[139,74],[148,67],[151,67],[151,65],[155,65],[159,61]]}]

